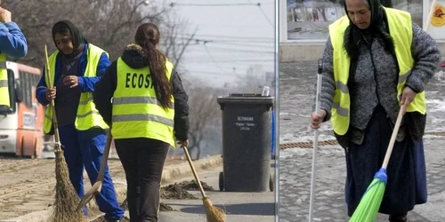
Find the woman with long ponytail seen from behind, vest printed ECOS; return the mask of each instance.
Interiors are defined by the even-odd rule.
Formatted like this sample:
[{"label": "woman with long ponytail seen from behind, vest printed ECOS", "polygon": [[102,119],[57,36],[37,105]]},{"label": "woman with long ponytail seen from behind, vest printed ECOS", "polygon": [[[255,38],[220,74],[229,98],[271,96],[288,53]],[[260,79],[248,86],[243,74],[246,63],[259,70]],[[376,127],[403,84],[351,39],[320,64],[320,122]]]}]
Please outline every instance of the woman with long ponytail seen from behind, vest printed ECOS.
[{"label": "woman with long ponytail seen from behind, vest printed ECOS", "polygon": [[[188,146],[188,96],[173,64],[159,52],[158,27],[142,24],[93,92],[125,170],[132,222],[158,221],[159,188],[169,147]],[[112,102],[110,99],[112,98]],[[177,139],[177,140],[176,140]]]}]

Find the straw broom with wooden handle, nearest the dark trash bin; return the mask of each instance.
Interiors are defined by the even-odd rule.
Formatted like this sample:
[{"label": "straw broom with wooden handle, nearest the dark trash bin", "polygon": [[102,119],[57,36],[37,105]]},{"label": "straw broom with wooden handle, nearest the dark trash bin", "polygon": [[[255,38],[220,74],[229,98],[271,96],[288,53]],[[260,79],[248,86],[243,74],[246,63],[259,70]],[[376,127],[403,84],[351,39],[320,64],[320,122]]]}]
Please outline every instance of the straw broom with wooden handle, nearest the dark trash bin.
[{"label": "straw broom with wooden handle, nearest the dark trash bin", "polygon": [[207,222],[225,222],[225,213],[223,210],[215,207],[212,202],[210,201],[210,198],[206,195],[204,192],[204,188],[201,185],[201,181],[199,181],[198,174],[196,173],[195,167],[193,166],[193,163],[191,162],[191,158],[189,155],[189,150],[187,147],[183,147],[184,153],[187,157],[187,161],[190,164],[191,171],[193,172],[193,176],[195,177],[195,180],[198,184],[199,191],[202,194],[202,201],[204,202],[204,207],[206,208],[206,216],[207,216]]}]

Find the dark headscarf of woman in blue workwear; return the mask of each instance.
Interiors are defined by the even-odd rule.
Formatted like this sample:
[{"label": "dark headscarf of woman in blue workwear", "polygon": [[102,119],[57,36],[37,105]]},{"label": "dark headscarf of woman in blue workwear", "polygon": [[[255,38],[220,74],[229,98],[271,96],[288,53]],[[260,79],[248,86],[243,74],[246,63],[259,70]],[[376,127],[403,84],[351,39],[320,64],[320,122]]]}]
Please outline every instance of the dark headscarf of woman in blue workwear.
[{"label": "dark headscarf of woman in blue workwear", "polygon": [[[61,20],[54,24],[53,26],[53,40],[56,33],[65,33],[69,31],[71,35],[71,39],[73,42],[73,52],[69,55],[65,55],[66,57],[73,58],[78,55],[81,51],[78,50],[79,46],[87,43],[85,36],[82,34],[82,31],[77,28],[71,21],[69,20]],[[55,44],[55,42],[54,42]]]}]

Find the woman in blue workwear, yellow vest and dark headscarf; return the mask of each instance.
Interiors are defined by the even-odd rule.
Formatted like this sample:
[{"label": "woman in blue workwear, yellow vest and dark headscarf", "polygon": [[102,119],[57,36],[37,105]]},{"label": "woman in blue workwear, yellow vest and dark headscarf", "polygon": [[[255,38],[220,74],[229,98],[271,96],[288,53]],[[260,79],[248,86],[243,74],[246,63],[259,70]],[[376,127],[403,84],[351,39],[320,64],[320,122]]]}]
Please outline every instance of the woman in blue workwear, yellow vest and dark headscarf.
[{"label": "woman in blue workwear, yellow vest and dark headscarf", "polygon": [[[82,32],[69,20],[53,26],[53,41],[57,51],[49,57],[49,74],[44,73],[36,89],[36,99],[46,106],[51,99],[55,112],[64,156],[69,168],[69,179],[79,197],[84,195],[84,167],[90,182],[96,181],[109,128],[94,107],[93,86],[109,66],[109,54],[87,42]],[[48,86],[45,75],[53,80]],[[46,109],[44,133],[53,134],[53,113]],[[105,171],[101,193],[95,196],[99,210],[108,221],[119,221],[124,216],[109,170]],[[86,208],[85,214],[86,212]]]}]

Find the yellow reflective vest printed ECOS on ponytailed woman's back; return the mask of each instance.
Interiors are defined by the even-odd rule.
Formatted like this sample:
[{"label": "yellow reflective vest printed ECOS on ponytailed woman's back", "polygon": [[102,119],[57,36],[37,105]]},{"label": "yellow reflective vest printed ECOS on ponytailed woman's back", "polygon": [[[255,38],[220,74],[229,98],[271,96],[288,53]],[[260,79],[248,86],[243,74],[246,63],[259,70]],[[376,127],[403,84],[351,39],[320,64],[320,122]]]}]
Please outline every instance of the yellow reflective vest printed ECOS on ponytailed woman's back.
[{"label": "yellow reflective vest printed ECOS on ponytailed woman's back", "polygon": [[[166,61],[170,80],[173,64]],[[171,98],[172,105],[174,98]],[[113,94],[114,139],[158,139],[176,147],[174,138],[174,106],[164,109],[156,98],[150,68],[133,68],[117,59],[117,87]]]}]

